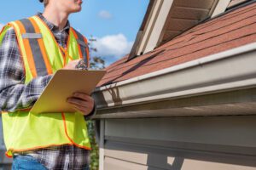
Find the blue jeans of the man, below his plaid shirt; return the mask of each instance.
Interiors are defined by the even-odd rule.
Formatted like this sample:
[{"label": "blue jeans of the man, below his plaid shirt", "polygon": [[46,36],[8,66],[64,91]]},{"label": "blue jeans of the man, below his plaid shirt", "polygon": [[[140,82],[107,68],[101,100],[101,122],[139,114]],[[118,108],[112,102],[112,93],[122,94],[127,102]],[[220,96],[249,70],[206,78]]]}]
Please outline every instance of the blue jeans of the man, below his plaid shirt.
[{"label": "blue jeans of the man, below his plaid shirt", "polygon": [[14,156],[12,170],[47,170],[32,156]]}]

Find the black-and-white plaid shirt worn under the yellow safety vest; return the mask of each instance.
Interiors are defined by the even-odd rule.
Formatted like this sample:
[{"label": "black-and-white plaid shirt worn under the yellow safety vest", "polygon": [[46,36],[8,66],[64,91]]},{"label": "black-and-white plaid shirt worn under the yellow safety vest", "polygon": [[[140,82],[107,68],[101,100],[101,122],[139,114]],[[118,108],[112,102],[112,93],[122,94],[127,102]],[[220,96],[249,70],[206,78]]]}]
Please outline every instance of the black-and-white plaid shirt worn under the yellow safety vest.
[{"label": "black-and-white plaid shirt worn under the yellow safety vest", "polygon": [[[62,31],[50,23],[41,13],[37,14],[55,35],[56,41],[66,48],[69,22]],[[9,28],[0,46],[0,111],[14,112],[31,107],[43,92],[52,76],[37,77],[25,84],[25,71],[21,59],[15,30]],[[96,109],[90,113],[94,115]],[[88,117],[86,116],[86,119]],[[52,146],[49,148],[15,153],[33,156],[48,169],[86,169],[90,162],[90,151],[74,145]]]}]

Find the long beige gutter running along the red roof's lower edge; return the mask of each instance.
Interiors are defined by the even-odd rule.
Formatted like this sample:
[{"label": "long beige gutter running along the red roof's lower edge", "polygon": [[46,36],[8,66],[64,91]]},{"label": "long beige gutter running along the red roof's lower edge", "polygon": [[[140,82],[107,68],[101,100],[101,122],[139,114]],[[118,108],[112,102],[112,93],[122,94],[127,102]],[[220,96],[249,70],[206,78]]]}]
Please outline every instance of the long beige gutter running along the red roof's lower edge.
[{"label": "long beige gutter running along the red roof's lower edge", "polygon": [[256,85],[256,42],[96,88],[97,108],[137,105]]}]

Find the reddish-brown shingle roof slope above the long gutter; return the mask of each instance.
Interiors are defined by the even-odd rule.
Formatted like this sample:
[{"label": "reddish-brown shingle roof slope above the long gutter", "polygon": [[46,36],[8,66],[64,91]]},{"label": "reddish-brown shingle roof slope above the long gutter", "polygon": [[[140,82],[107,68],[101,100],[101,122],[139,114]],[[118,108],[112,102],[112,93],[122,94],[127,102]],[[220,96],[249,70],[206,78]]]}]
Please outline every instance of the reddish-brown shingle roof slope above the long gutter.
[{"label": "reddish-brown shingle roof slope above the long gutter", "polygon": [[106,68],[97,87],[121,82],[256,41],[256,3],[201,23],[154,51],[126,62],[128,55]]}]

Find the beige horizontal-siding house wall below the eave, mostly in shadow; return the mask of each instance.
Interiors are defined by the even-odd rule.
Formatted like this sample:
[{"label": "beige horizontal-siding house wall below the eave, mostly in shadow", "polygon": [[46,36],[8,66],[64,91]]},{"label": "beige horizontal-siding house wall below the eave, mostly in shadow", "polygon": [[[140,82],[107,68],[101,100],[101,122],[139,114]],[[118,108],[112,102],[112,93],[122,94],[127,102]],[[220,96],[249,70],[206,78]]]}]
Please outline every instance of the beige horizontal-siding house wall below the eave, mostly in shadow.
[{"label": "beige horizontal-siding house wall below the eave, mostly in shadow", "polygon": [[104,170],[256,169],[256,116],[101,120]]}]

